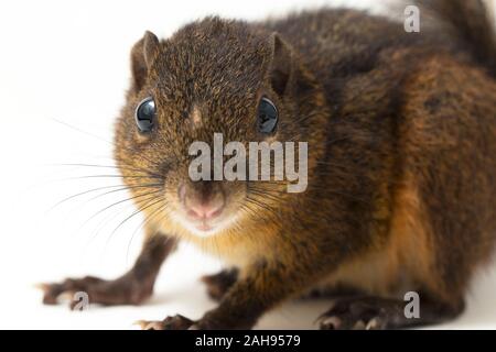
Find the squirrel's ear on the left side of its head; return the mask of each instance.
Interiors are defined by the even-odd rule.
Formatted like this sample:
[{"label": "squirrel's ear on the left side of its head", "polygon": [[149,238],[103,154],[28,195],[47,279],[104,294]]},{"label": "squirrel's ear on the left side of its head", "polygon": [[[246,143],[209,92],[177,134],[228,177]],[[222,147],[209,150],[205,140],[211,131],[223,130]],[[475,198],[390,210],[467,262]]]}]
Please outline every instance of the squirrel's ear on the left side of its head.
[{"label": "squirrel's ear on the left side of its head", "polygon": [[131,70],[134,91],[140,90],[147,80],[153,56],[159,50],[159,38],[147,31],[144,36],[131,50]]}]

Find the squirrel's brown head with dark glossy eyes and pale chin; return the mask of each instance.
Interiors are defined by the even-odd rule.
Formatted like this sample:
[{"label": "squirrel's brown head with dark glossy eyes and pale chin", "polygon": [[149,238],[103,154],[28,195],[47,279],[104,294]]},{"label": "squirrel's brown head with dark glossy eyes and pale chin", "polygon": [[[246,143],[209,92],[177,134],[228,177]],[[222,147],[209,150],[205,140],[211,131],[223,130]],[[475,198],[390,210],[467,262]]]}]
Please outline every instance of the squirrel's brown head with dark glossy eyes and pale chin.
[{"label": "squirrel's brown head with dark glossy eyes and pale chin", "polygon": [[[207,18],[164,41],[147,32],[132,48],[131,72],[115,157],[150,221],[207,237],[276,217],[291,197],[287,180],[193,182],[188,150],[196,141],[214,147],[215,133],[247,150],[249,142],[317,140],[327,107],[298,53],[278,33]],[[276,121],[260,121],[260,109]],[[317,157],[311,148],[309,167]]]}]

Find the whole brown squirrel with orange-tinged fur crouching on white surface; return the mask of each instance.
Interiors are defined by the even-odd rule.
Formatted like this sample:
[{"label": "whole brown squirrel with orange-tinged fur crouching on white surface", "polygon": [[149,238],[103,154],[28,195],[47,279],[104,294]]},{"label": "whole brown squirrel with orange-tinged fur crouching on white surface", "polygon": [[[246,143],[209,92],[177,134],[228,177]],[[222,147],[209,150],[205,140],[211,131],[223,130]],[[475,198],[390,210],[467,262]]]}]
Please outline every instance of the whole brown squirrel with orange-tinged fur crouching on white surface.
[{"label": "whole brown squirrel with orange-tinged fur crouching on white surface", "polygon": [[[145,329],[251,328],[309,290],[335,298],[322,329],[457,317],[496,240],[496,41],[482,1],[417,6],[419,33],[349,9],[207,18],[163,41],[147,32],[115,150],[126,185],[140,186],[130,190],[147,219],[142,253],[116,280],[47,284],[44,301],[85,290],[96,304],[141,304],[184,240],[228,263],[204,277],[219,305]],[[214,133],[308,141],[308,189],[192,182],[188,146]],[[411,290],[416,319],[403,314]]]}]

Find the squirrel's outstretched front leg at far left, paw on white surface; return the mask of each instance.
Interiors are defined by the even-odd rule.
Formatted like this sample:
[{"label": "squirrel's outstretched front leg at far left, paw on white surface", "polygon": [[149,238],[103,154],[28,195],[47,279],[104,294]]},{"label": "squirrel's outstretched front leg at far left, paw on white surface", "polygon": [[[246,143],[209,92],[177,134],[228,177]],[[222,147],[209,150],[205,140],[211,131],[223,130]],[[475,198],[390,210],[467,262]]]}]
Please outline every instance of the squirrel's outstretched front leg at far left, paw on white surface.
[{"label": "squirrel's outstretched front leg at far left, paw on white surface", "polygon": [[[76,297],[76,293],[85,293],[89,304],[139,305],[151,296],[160,267],[174,246],[175,240],[171,238],[160,234],[150,237],[133,267],[125,275],[112,280],[86,276],[67,278],[62,283],[41,284],[39,286],[44,292],[43,302],[55,305],[61,296]],[[71,308],[77,307],[78,301],[72,299]]]}]

